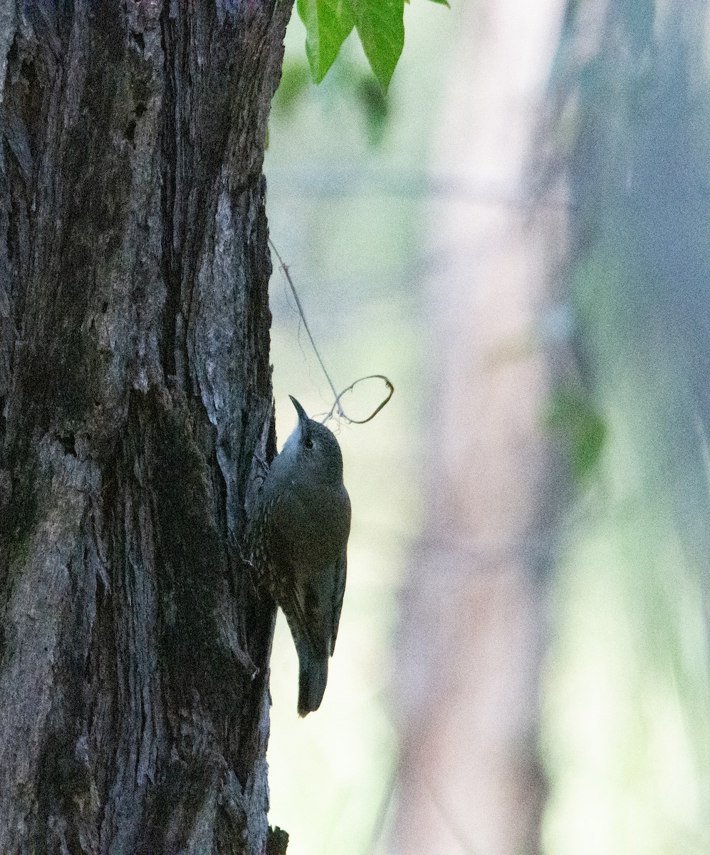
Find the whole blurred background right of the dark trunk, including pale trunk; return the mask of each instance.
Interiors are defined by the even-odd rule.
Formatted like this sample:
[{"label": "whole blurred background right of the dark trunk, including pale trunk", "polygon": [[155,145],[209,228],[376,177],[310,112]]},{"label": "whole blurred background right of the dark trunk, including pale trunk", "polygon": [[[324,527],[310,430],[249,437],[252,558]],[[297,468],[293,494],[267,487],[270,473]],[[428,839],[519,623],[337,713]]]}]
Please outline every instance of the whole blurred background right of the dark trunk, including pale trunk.
[{"label": "whole blurred background right of the dark trunk, including pale trunk", "polygon": [[[710,852],[707,3],[412,0],[386,97],[294,15],[270,233],[354,516],[320,711],[279,616],[291,855]],[[276,264],[288,394],[332,394]],[[343,399],[368,414],[376,383]]]}]

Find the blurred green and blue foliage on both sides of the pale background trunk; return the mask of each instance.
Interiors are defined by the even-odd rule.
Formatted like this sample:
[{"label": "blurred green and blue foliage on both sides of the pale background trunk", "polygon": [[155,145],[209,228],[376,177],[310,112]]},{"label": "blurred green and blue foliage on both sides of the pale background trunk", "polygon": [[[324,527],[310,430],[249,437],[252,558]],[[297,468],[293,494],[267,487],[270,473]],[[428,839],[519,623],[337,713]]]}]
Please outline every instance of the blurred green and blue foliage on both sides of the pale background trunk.
[{"label": "blurred green and blue foliage on both sides of the pale background trunk", "polygon": [[[279,625],[271,818],[295,855],[377,851],[397,764],[390,645],[436,370],[422,279],[437,259],[421,247],[432,200],[462,192],[427,168],[463,0],[407,10],[394,77],[405,7],[377,5],[390,35],[368,47],[355,3],[298,4],[308,65],[295,19],[267,153],[271,233],[336,384],[384,371],[397,387],[371,425],[340,434],[358,509],[352,570],[332,684],[305,722]],[[571,223],[560,292],[578,370],[546,416],[575,486],[541,687],[549,855],[710,851],[706,15],[706,3],[569,3],[550,57],[552,171],[566,171]],[[492,192],[491,207],[525,204],[503,197]],[[289,392],[327,410],[295,310],[278,279],[272,289],[279,417]]]}]

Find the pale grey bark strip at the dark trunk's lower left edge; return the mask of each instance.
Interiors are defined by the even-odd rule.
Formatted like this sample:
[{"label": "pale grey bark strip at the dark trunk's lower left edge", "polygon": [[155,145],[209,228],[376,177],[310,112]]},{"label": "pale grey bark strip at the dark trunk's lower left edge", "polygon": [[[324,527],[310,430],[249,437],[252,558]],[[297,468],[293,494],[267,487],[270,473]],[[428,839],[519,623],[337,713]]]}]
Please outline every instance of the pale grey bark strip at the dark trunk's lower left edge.
[{"label": "pale grey bark strip at the dark trunk's lower left edge", "polygon": [[[96,466],[64,454],[49,440],[39,448],[39,473],[48,489],[46,513],[32,534],[3,616],[0,852],[21,851],[27,814],[32,811],[45,722],[56,694],[56,659],[72,619],[70,576],[85,569],[88,495],[98,481]],[[11,568],[13,573],[19,570]],[[91,593],[85,598],[87,628],[94,616]]]}]

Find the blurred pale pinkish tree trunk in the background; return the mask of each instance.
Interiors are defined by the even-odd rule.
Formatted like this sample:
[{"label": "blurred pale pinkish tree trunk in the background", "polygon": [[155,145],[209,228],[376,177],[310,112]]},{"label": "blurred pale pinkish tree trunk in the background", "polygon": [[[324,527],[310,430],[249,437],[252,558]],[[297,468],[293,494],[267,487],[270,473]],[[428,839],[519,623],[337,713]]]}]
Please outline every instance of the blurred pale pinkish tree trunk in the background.
[{"label": "blurred pale pinkish tree trunk in the background", "polygon": [[435,174],[425,532],[403,604],[391,852],[538,851],[555,495],[544,429],[563,205],[526,203],[562,3],[467,3]]}]

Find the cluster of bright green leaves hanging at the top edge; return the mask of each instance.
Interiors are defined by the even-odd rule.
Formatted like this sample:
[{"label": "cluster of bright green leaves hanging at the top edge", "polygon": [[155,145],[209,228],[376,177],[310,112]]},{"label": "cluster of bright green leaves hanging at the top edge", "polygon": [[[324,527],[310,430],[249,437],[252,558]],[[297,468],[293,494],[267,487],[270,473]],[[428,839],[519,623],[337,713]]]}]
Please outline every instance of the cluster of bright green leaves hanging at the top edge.
[{"label": "cluster of bright green leaves hanging at the top edge", "polygon": [[[341,44],[355,28],[370,67],[386,90],[404,47],[404,3],[405,0],[298,0],[314,82],[323,80]],[[448,0],[431,3],[449,5]]]}]

